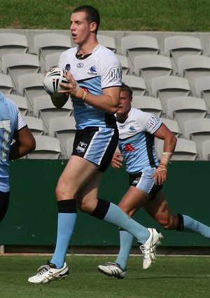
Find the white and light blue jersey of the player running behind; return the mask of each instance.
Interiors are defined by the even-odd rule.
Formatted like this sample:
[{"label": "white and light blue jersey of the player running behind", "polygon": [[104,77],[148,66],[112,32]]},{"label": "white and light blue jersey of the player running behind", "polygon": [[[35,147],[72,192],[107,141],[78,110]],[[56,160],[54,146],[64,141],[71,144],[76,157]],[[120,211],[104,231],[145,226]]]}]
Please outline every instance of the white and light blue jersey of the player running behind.
[{"label": "white and light blue jersey of the player running behind", "polygon": [[162,122],[155,115],[132,108],[124,123],[117,122],[118,146],[130,174],[158,166],[154,136]]}]

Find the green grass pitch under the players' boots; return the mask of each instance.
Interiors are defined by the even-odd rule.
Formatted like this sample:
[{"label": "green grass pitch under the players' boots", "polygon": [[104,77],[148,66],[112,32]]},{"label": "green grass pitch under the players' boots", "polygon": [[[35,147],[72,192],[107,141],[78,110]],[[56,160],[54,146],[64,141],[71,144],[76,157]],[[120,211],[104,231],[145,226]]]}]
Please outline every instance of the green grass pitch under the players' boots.
[{"label": "green grass pitch under the players' boots", "polygon": [[142,258],[130,257],[124,280],[97,271],[114,256],[68,256],[70,276],[61,281],[31,285],[27,278],[48,256],[0,256],[1,298],[209,298],[209,257],[158,256],[151,269]]}]

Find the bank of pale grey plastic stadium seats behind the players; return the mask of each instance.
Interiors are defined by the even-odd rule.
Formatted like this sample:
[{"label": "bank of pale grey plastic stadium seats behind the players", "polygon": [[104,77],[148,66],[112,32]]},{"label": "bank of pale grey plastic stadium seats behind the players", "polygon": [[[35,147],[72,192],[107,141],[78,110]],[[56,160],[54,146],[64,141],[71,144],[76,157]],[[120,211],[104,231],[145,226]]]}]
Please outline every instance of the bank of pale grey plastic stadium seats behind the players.
[{"label": "bank of pale grey plastic stadium seats behind the players", "polygon": [[[100,43],[118,55],[123,65],[123,82],[134,92],[133,107],[153,112],[167,122],[179,137],[176,151],[179,149],[181,152],[182,147],[187,151],[187,147],[192,145],[187,156],[183,156],[182,152],[180,157],[177,151],[176,156],[179,157],[174,158],[208,159],[208,151],[204,153],[207,144],[193,136],[193,133],[202,133],[207,141],[210,130],[210,57],[203,55],[200,39],[192,36],[167,37],[165,55],[160,55],[158,40],[151,36],[122,37],[120,53],[117,53],[113,38],[98,37]],[[67,35],[37,34],[34,36],[34,53],[29,53],[25,35],[0,34],[0,90],[18,104],[34,134],[57,139],[63,135],[63,140],[59,140],[59,158],[68,157],[66,137],[70,130],[74,130],[70,129],[70,121],[74,119],[69,117],[73,116],[73,109],[70,101],[63,109],[56,109],[43,90],[42,82],[44,73],[57,65],[60,53],[71,46]],[[61,117],[62,121],[69,118],[69,123],[64,121],[61,128],[53,130],[53,119]],[[200,123],[199,131],[188,133],[187,123],[194,120]],[[61,130],[62,134],[58,134]],[[162,143],[156,143],[156,151],[160,153]]]}]

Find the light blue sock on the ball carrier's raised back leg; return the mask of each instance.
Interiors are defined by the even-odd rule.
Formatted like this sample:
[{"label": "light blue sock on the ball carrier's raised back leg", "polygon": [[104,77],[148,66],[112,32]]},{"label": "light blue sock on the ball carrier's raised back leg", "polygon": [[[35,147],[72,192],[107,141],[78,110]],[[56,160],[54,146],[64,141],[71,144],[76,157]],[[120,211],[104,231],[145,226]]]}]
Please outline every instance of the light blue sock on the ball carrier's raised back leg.
[{"label": "light blue sock on the ball carrier's raised back leg", "polygon": [[141,224],[135,222],[134,219],[125,214],[123,210],[113,203],[110,203],[109,210],[107,211],[104,220],[111,224],[116,224],[116,226],[120,226],[143,244],[146,243],[150,236],[150,232],[145,226],[141,226]]}]

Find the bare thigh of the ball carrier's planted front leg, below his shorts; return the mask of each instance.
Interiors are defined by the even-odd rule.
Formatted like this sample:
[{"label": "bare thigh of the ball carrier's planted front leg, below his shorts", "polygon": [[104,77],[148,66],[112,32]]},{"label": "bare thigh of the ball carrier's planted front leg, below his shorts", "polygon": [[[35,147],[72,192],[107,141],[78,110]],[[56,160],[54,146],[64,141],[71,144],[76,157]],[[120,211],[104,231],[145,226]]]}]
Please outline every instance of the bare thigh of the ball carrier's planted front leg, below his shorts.
[{"label": "bare thigh of the ball carrier's planted front leg, below his shorts", "polygon": [[85,158],[71,156],[57,182],[57,196],[62,199],[74,198],[76,193],[94,176],[98,168],[98,165]]}]

